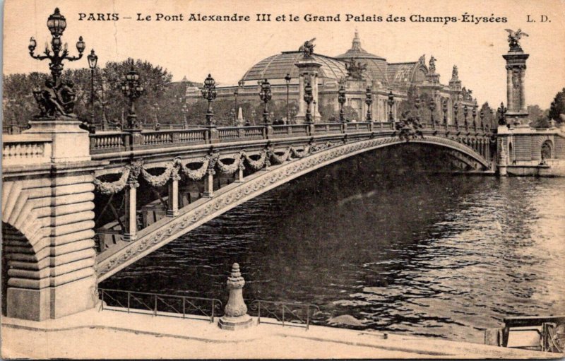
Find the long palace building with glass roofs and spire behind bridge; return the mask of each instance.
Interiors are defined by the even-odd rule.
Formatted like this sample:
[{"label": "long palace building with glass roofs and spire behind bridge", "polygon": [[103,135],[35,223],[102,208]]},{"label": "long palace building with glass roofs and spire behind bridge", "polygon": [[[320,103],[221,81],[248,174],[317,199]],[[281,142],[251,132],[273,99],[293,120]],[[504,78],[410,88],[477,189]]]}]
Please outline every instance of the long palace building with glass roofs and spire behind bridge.
[{"label": "long palace building with glass roofs and spire behind bridge", "polygon": [[[304,59],[302,51],[281,52],[259,61],[251,66],[242,76],[243,86],[222,85],[218,86],[217,100],[233,100],[234,91],[237,90],[239,102],[259,102],[258,88],[263,79],[268,79],[271,85],[274,102],[286,102],[287,96],[292,104],[300,104],[303,92],[300,87],[299,62]],[[471,123],[472,107],[476,104],[472,98],[471,90],[465,89],[458,78],[457,66],[453,66],[451,80],[447,85],[441,84],[439,74],[435,71],[435,60],[432,57],[426,64],[422,55],[417,61],[402,63],[388,63],[385,58],[367,52],[361,46],[359,34],[355,32],[352,46],[347,52],[335,57],[312,54],[311,59],[320,64],[316,71],[316,94],[314,94],[314,122],[327,122],[335,117],[340,109],[338,103],[338,90],[343,82],[346,92],[344,107],[353,110],[350,121],[362,122],[367,119],[366,91],[372,90],[371,114],[372,120],[387,121],[389,112],[393,119],[399,119],[403,101],[407,101],[410,92],[415,92],[422,99],[422,111],[427,109],[429,102],[434,102],[434,119],[443,122],[444,102],[446,102],[446,119],[448,124],[455,124],[453,105],[457,103],[458,120],[463,124],[464,108],[467,107],[469,122]],[[290,76],[290,81],[285,80]],[[389,94],[392,92],[394,103],[388,105]],[[317,95],[317,96],[316,96]],[[200,90],[189,87],[186,90],[186,101],[189,103],[201,100]],[[322,110],[319,112],[319,110]],[[293,122],[300,122],[299,109],[290,110]],[[351,112],[350,112],[351,113]],[[249,117],[249,114],[244,114]],[[429,119],[422,119],[429,122]],[[478,122],[478,120],[477,120]],[[478,124],[477,124],[478,125]]]}]

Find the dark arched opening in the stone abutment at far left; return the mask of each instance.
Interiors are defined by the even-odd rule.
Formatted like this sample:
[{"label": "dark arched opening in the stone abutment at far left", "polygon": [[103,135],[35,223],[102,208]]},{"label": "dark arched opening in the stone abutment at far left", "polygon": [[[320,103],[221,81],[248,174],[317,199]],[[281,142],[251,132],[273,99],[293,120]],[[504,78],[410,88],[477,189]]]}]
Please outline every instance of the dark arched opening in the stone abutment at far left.
[{"label": "dark arched opening in the stone abutment at far left", "polygon": [[[32,245],[19,230],[12,225],[2,222],[2,314],[7,315],[7,292],[8,292],[8,259],[15,252],[12,249],[18,249],[18,254],[32,255]],[[20,261],[24,261],[23,259]]]}]

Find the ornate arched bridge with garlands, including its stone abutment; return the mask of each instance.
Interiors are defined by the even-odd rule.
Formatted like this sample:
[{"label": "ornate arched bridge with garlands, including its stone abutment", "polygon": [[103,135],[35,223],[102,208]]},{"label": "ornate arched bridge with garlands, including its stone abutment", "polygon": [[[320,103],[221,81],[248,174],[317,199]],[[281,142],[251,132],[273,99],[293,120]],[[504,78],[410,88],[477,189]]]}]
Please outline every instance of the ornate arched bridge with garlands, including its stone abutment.
[{"label": "ornate arched bridge with garlands, including its stone abutment", "polygon": [[[394,122],[89,134],[32,122],[4,136],[3,304],[49,319],[97,302],[96,285],[208,220],[291,179],[405,143],[493,172],[489,129]],[[121,199],[121,201],[117,201]]]}]

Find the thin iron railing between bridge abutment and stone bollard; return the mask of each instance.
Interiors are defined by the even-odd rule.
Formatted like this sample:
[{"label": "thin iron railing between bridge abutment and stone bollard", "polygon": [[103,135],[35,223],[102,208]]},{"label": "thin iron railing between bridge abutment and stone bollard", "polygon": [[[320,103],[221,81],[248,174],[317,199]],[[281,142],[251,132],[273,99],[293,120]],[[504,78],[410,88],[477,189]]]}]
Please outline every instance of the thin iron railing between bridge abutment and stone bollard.
[{"label": "thin iron railing between bridge abutment and stone bollard", "polygon": [[[222,309],[215,298],[165,295],[162,293],[133,292],[99,288],[102,309],[112,311],[153,314],[153,316],[182,317],[183,319],[209,319],[214,322]],[[107,303],[105,305],[105,302]],[[196,312],[196,314],[195,314]]]}]

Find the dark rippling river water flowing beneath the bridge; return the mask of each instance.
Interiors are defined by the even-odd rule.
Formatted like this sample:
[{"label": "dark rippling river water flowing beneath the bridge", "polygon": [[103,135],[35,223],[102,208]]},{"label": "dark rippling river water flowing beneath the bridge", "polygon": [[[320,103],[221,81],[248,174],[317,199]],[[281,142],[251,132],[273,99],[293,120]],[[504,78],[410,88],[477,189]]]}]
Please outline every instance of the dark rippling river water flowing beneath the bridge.
[{"label": "dark rippling river water flowing beneath the bridge", "polygon": [[[407,164],[410,163],[410,164]],[[565,179],[426,170],[381,152],[210,221],[101,286],[317,304],[317,324],[482,343],[505,316],[565,314]]]}]

